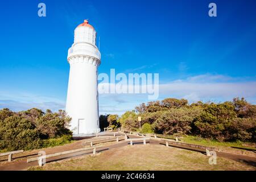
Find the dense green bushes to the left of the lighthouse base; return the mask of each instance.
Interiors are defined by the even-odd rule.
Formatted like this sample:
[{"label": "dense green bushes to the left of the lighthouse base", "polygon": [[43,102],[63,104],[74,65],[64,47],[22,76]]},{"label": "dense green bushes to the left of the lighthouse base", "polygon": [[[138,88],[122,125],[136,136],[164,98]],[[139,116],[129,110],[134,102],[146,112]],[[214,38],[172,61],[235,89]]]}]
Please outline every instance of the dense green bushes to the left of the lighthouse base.
[{"label": "dense green bushes to the left of the lighthouse base", "polygon": [[67,129],[70,121],[71,118],[63,110],[58,113],[47,110],[47,113],[43,113],[33,108],[15,113],[2,109],[0,150],[32,150],[68,142],[72,137],[72,132]]}]

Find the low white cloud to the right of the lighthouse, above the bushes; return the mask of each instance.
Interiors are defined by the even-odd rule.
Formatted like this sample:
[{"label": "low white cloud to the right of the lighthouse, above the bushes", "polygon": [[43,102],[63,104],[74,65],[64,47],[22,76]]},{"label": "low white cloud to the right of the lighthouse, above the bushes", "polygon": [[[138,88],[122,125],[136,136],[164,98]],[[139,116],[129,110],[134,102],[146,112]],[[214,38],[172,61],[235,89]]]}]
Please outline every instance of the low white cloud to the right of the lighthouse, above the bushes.
[{"label": "low white cloud to the right of the lighthouse, above the bushes", "polygon": [[[241,80],[241,78],[210,74],[175,80],[159,85],[159,100],[174,97],[185,98],[190,103],[222,102],[231,101],[234,97],[245,97],[247,101],[255,104],[256,81]],[[100,106],[104,106],[104,109],[102,107],[100,113],[109,111],[112,114],[122,114],[142,102],[148,102],[147,98],[147,94],[101,94]]]}]

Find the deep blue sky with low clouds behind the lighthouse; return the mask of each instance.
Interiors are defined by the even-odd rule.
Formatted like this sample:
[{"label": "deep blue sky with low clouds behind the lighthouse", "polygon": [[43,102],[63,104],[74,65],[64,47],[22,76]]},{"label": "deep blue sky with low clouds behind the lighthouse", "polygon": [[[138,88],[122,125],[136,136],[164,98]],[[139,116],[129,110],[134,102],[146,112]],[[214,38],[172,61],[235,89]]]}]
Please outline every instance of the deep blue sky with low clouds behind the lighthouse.
[{"label": "deep blue sky with low clouds behind the lighthouse", "polygon": [[[46,3],[46,17],[38,3]],[[217,5],[217,17],[208,5]],[[67,51],[89,19],[100,36],[99,73],[159,73],[159,99],[246,97],[256,104],[255,1],[1,2],[0,109],[64,109]],[[102,94],[100,113],[147,102],[143,94]]]}]

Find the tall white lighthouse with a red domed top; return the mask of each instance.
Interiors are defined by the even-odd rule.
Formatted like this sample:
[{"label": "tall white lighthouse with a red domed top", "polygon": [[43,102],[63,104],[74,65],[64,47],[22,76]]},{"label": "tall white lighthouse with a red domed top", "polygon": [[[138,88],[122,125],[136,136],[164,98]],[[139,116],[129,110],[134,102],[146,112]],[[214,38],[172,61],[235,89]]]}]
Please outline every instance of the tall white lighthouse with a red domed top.
[{"label": "tall white lighthouse with a red domed top", "polygon": [[67,59],[70,71],[66,112],[72,118],[70,129],[73,135],[97,133],[100,131],[97,69],[101,54],[96,46],[96,31],[88,20],[76,27]]}]

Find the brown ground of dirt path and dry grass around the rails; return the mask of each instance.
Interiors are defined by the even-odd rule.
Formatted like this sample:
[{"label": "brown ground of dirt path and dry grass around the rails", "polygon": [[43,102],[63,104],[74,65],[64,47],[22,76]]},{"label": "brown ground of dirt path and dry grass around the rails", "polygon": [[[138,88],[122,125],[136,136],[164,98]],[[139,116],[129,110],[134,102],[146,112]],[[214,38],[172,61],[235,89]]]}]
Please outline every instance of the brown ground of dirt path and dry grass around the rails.
[{"label": "brown ground of dirt path and dry grass around the rails", "polygon": [[[123,135],[123,134],[119,134]],[[129,138],[138,138],[128,135]],[[89,152],[76,152],[47,159],[43,167],[38,167],[37,162],[27,163],[27,158],[37,156],[43,150],[46,154],[82,148],[84,142],[109,137],[94,137],[79,139],[63,146],[42,148],[40,150],[25,151],[15,154],[13,162],[7,162],[7,156],[0,157],[1,170],[252,170],[256,171],[256,153],[241,148],[232,148],[223,143],[209,143],[196,141],[204,146],[217,146],[217,164],[209,164],[209,156],[198,151],[185,150],[175,147],[166,147],[159,144],[160,139],[151,138],[146,145],[135,142],[130,146],[128,141],[118,143],[107,142],[96,144],[97,154]],[[195,143],[192,140],[188,143]],[[202,143],[203,142],[203,143]],[[230,143],[231,144],[231,143]],[[224,145],[224,146],[223,146]],[[231,144],[232,145],[232,144]],[[250,147],[253,148],[253,147]]]}]

